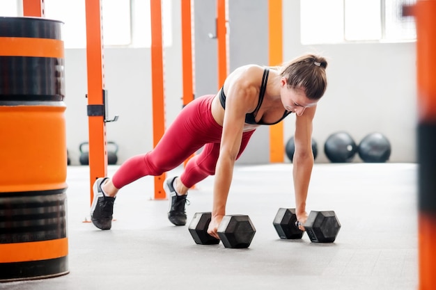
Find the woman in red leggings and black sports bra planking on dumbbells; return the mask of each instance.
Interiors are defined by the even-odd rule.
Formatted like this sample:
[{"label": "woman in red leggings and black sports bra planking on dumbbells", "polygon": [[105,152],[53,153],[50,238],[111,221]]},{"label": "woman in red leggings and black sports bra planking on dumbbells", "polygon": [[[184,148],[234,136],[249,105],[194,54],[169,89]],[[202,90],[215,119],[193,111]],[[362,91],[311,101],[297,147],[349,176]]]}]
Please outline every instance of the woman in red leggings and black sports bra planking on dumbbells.
[{"label": "woman in red leggings and black sports bra planking on dumbbells", "polygon": [[[217,95],[198,97],[185,106],[154,150],[125,161],[112,179],[95,181],[91,205],[94,225],[111,228],[114,200],[120,188],[146,175],[162,175],[204,146],[189,160],[180,177],[165,180],[164,189],[170,199],[168,215],[174,225],[185,225],[188,188],[215,175],[208,233],[219,239],[217,228],[226,214],[235,161],[257,127],[277,124],[290,113],[297,115],[293,179],[297,219],[304,224],[313,168],[312,120],[327,88],[326,67],[322,56],[305,54],[281,67],[237,68]],[[302,225],[299,227],[304,230]]]}]

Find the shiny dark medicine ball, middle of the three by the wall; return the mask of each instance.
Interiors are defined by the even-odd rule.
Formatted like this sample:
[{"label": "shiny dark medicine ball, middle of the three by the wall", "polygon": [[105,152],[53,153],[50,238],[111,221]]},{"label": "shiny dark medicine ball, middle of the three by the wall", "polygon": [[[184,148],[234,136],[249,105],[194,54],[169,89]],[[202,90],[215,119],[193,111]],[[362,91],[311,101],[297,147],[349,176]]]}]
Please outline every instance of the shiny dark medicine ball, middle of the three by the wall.
[{"label": "shiny dark medicine ball, middle of the three by the wall", "polygon": [[350,134],[336,132],[325,141],[324,152],[332,163],[351,162],[357,153],[357,145]]}]

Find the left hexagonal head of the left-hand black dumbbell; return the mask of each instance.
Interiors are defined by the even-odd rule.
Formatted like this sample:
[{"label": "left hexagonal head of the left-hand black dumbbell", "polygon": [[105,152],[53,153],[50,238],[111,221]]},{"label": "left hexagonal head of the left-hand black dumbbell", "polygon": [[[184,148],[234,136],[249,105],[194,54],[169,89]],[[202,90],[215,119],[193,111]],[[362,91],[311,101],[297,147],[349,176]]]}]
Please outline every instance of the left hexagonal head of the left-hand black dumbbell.
[{"label": "left hexagonal head of the left-hand black dumbbell", "polygon": [[215,239],[208,234],[208,227],[212,214],[210,212],[195,213],[191,223],[189,223],[189,233],[198,245],[216,245],[219,239]]}]

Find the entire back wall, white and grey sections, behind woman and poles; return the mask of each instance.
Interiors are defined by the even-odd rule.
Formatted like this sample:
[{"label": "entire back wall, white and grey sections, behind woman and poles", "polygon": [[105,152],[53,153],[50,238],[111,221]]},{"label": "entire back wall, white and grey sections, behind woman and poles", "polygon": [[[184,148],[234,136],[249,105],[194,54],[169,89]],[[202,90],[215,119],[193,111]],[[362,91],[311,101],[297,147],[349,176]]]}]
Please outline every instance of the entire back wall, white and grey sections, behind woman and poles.
[{"label": "entire back wall, white and grey sections, behind woman and poles", "polygon": [[[195,2],[196,33],[215,31],[216,6],[215,1],[212,1],[213,3],[209,1],[212,0]],[[263,6],[267,2],[256,1],[259,1],[258,5]],[[173,1],[173,46],[164,50],[166,125],[171,124],[182,108],[180,4],[178,2]],[[235,9],[230,12],[231,68],[238,63],[256,62],[267,65],[267,58],[265,63],[262,63],[264,56],[260,56],[267,51],[265,49],[267,41],[261,40],[260,35],[256,33],[259,28],[245,29],[242,28],[243,23],[241,23],[244,19],[258,19],[260,25],[267,21],[266,15],[265,18],[256,18],[247,12],[242,15],[237,9],[251,3],[254,1],[231,1],[231,7]],[[210,5],[213,8],[210,8]],[[251,11],[248,7],[244,9]],[[267,10],[264,12],[266,14]],[[204,17],[200,22],[198,16],[206,14],[212,19]],[[267,31],[267,26],[264,29]],[[238,45],[238,33],[255,35],[241,39]],[[201,37],[204,39],[201,40]],[[203,41],[205,47],[210,46],[209,56],[201,56],[197,51],[198,48],[195,48],[196,89],[194,92],[197,96],[217,92],[216,41],[206,38],[207,35],[196,35],[196,45]],[[244,54],[244,51],[247,54]],[[259,56],[254,54],[254,51],[258,51]],[[299,43],[299,1],[283,1],[283,58],[288,60],[306,51],[318,51],[329,59],[327,68],[329,87],[325,97],[320,101],[314,121],[313,137],[318,141],[318,145],[322,147],[329,134],[334,131],[348,131],[357,142],[372,131],[380,131],[392,143],[391,162],[414,162],[416,160],[414,42],[306,47]],[[129,156],[153,148],[150,49],[107,48],[104,50],[104,67],[106,88],[109,90],[109,114],[120,115],[118,122],[107,124],[107,139],[116,141],[120,146],[118,163],[122,163]],[[65,49],[65,86],[67,145],[72,163],[78,164],[79,143],[88,140],[84,97],[87,90],[84,49]],[[294,116],[285,120],[283,143],[293,135],[294,123]],[[240,161],[267,163],[265,156],[269,155],[267,143],[269,139],[265,138],[266,135],[267,127],[256,132],[253,137],[254,142],[249,144],[247,152]],[[286,157],[285,161],[288,162]],[[327,162],[322,148],[316,161]],[[356,157],[355,161],[360,160]]]}]

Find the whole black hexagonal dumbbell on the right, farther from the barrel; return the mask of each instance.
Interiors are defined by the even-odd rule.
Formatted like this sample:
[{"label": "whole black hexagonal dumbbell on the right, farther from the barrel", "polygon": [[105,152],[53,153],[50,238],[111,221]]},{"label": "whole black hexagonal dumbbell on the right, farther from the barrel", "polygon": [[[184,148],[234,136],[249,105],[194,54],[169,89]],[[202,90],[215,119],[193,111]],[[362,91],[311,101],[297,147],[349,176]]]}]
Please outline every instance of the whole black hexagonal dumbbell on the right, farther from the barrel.
[{"label": "whole black hexagonal dumbbell on the right, farther from the barrel", "polygon": [[[295,209],[280,208],[273,225],[281,239],[301,239],[303,236],[298,229]],[[303,226],[313,243],[333,243],[341,229],[334,211],[311,211]]]}]

